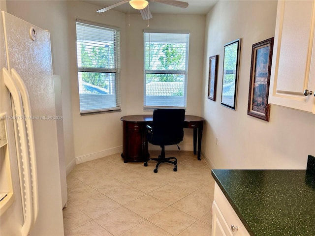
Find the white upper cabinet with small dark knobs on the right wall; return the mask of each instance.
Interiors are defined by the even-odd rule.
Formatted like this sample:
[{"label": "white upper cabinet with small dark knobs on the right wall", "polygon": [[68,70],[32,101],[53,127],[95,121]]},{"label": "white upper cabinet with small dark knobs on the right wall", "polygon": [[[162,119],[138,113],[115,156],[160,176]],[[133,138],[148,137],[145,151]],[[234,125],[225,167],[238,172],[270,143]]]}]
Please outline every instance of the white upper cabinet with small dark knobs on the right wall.
[{"label": "white upper cabinet with small dark knobs on the right wall", "polygon": [[315,114],[314,31],[315,0],[278,1],[270,104]]}]

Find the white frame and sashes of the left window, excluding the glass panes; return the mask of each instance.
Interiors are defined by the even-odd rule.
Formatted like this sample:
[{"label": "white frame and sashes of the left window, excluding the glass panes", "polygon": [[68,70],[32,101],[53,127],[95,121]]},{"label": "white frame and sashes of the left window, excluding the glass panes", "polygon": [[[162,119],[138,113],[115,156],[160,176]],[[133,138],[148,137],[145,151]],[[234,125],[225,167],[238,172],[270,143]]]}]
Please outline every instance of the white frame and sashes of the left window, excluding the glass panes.
[{"label": "white frame and sashes of the left window, excluding the glass panes", "polygon": [[[78,47],[76,46],[76,56],[77,56],[77,68],[78,68],[78,82],[79,82],[79,73],[80,72],[91,72],[91,73],[111,73],[115,74],[115,82],[114,82],[114,89],[115,89],[115,103],[116,106],[113,107],[108,107],[108,108],[100,108],[100,109],[89,109],[89,110],[81,110],[81,105],[80,105],[80,115],[91,115],[91,114],[98,114],[98,113],[108,113],[108,112],[119,112],[121,111],[121,94],[120,94],[120,31],[121,29],[118,27],[113,27],[113,26],[108,26],[108,25],[103,25],[95,22],[90,22],[90,21],[84,21],[80,19],[76,19],[76,31],[77,31],[77,23],[79,24],[86,24],[86,25],[91,25],[91,26],[96,26],[96,27],[101,27],[105,29],[110,29],[115,31],[116,37],[114,40],[114,69],[112,68],[106,68],[106,67],[79,67],[78,65]],[[93,41],[93,40],[91,40]],[[76,36],[76,44],[78,43],[78,38]],[[79,82],[80,83],[80,82]],[[80,100],[80,85],[78,85],[79,89],[79,103],[81,103]]]}]

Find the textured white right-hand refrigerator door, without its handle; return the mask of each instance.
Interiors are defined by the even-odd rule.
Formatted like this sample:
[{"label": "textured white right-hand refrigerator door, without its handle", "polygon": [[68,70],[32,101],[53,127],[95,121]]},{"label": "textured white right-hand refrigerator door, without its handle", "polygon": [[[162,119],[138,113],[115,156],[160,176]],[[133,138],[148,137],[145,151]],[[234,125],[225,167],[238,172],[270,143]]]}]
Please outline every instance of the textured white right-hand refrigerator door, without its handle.
[{"label": "textured white right-hand refrigerator door, without its handle", "polygon": [[[30,97],[36,148],[37,221],[30,235],[63,235],[61,179],[50,34],[2,11],[7,68],[21,76]],[[30,29],[36,33],[35,40]]]}]

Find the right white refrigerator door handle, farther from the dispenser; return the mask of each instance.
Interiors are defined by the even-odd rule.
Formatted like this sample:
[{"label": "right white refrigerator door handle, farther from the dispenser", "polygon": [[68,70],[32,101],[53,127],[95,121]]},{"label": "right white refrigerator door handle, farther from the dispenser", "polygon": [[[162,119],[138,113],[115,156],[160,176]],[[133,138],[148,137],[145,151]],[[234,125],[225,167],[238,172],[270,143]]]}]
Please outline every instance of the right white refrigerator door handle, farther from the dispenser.
[{"label": "right white refrigerator door handle, farther from the dispenser", "polygon": [[37,164],[36,164],[36,152],[35,152],[35,141],[34,141],[34,130],[33,130],[33,121],[32,121],[32,112],[30,105],[29,92],[26,89],[26,86],[18,74],[18,72],[12,68],[11,69],[12,77],[17,84],[21,98],[22,105],[24,110],[24,120],[27,130],[27,140],[29,142],[30,148],[30,162],[31,162],[31,177],[32,177],[32,198],[33,198],[33,224],[36,222],[38,214],[38,183],[37,183]]}]

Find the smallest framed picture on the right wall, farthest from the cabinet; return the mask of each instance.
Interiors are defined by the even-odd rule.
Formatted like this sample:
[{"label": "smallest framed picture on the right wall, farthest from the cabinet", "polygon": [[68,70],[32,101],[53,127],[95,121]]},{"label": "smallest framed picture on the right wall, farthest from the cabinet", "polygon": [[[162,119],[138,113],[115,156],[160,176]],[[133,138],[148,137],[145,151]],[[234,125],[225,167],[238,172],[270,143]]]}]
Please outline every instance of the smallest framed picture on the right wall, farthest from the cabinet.
[{"label": "smallest framed picture on the right wall, farthest from the cabinet", "polygon": [[219,55],[209,57],[208,98],[216,101]]}]

